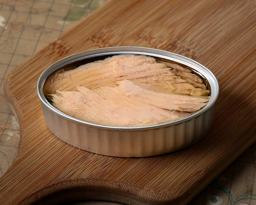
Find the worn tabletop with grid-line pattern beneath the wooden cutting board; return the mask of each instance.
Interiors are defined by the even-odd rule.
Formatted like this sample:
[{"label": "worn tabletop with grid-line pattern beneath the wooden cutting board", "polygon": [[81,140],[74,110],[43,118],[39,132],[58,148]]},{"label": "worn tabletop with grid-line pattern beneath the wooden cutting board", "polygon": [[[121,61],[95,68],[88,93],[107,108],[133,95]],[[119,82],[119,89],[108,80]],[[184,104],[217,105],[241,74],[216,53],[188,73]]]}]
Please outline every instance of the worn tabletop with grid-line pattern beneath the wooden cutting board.
[{"label": "worn tabletop with grid-line pattern beneath the wooden cutting board", "polygon": [[[20,143],[19,123],[4,96],[5,77],[106,1],[0,2],[0,176],[11,166]],[[253,144],[190,204],[256,204],[255,149]]]}]

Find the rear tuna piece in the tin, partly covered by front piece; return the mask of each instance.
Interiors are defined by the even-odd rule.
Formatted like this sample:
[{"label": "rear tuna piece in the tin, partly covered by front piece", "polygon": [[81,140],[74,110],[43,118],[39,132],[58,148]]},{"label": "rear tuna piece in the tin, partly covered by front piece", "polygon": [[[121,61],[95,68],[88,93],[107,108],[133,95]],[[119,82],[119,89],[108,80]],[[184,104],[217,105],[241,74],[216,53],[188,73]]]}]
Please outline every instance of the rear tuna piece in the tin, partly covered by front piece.
[{"label": "rear tuna piece in the tin, partly covered by front piece", "polygon": [[44,93],[76,91],[77,86],[99,88],[131,80],[162,93],[207,96],[203,81],[181,65],[159,61],[145,55],[121,54],[86,63],[73,70],[59,70],[47,78]]}]

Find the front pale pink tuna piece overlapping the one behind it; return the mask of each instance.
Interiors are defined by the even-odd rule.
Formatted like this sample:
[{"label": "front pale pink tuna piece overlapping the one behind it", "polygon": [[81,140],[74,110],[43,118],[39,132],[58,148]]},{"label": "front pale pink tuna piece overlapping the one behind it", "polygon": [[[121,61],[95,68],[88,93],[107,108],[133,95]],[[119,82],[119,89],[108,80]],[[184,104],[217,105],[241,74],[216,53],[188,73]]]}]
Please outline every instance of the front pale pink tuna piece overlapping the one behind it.
[{"label": "front pale pink tuna piece overlapping the one behind it", "polygon": [[57,91],[51,97],[53,106],[71,117],[118,127],[156,125],[184,118],[209,100],[209,97],[157,93],[130,80],[97,89],[77,86],[77,91]]}]

